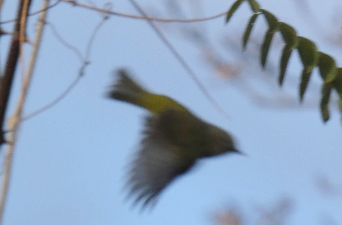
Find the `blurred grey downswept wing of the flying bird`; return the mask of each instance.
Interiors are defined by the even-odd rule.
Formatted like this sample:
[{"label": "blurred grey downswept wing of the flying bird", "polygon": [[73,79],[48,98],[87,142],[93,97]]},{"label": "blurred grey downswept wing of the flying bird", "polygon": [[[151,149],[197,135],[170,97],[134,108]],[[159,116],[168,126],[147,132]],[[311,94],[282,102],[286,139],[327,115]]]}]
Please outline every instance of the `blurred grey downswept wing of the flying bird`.
[{"label": "blurred grey downswept wing of the flying bird", "polygon": [[128,185],[129,195],[137,195],[135,203],[143,207],[154,204],[160,192],[178,175],[193,166],[195,159],[180,154],[180,147],[168,142],[158,129],[159,117],[146,118],[145,138],[132,162]]}]

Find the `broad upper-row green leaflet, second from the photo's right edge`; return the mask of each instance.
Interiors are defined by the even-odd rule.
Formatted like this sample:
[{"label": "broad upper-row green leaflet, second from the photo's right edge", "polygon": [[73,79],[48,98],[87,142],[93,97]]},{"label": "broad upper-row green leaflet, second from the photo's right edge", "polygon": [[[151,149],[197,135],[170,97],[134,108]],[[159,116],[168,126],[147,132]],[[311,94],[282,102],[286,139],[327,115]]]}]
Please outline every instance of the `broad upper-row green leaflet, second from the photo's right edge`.
[{"label": "broad upper-row green leaflet, second from the photo's right edge", "polygon": [[325,82],[331,82],[336,78],[336,63],[330,56],[322,52],[319,53],[318,68],[321,77]]}]

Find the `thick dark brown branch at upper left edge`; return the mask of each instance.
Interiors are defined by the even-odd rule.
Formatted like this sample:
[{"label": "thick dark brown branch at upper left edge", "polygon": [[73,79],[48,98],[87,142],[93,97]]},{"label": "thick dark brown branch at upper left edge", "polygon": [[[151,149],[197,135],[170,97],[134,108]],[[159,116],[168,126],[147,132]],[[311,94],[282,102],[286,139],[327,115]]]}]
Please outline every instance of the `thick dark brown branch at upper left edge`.
[{"label": "thick dark brown branch at upper left edge", "polygon": [[[28,1],[28,7],[26,10],[29,10],[31,0]],[[10,51],[8,53],[7,62],[5,66],[5,70],[3,75],[1,76],[0,81],[0,128],[3,130],[4,120],[5,120],[5,113],[8,105],[8,100],[10,96],[10,91],[12,87],[12,81],[15,73],[15,67],[18,62],[19,56],[19,31],[21,27],[21,17],[23,14],[23,5],[24,0],[21,0],[18,5],[17,11],[17,19],[13,31],[12,42],[10,46]],[[27,12],[26,12],[27,14]],[[26,25],[26,24],[25,24]],[[24,25],[24,26],[25,26]],[[3,132],[0,134],[0,145],[5,142]]]}]

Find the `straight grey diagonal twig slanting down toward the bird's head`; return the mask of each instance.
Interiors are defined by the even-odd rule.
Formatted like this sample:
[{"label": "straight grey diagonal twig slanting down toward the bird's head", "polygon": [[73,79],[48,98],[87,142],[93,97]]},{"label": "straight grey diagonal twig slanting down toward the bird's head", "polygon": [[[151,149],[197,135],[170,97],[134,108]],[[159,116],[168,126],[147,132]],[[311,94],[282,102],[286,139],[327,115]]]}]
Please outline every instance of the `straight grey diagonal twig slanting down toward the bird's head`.
[{"label": "straight grey diagonal twig slanting down toward the bird's head", "polygon": [[[144,10],[134,1],[129,0],[133,6],[144,16],[147,17]],[[207,89],[204,87],[204,85],[201,83],[201,81],[198,79],[195,72],[191,69],[191,67],[185,62],[181,54],[173,47],[173,45],[167,40],[167,38],[162,34],[160,29],[149,19],[147,19],[147,22],[149,25],[153,28],[153,30],[157,33],[159,38],[166,44],[168,49],[171,51],[171,53],[176,57],[176,59],[181,63],[183,68],[186,70],[188,75],[194,80],[194,82],[197,84],[199,89],[202,91],[202,93],[207,97],[209,102],[217,109],[219,110],[226,118],[230,118],[230,116],[226,113],[226,111],[215,101],[215,99],[210,95],[210,93],[207,91]]]}]

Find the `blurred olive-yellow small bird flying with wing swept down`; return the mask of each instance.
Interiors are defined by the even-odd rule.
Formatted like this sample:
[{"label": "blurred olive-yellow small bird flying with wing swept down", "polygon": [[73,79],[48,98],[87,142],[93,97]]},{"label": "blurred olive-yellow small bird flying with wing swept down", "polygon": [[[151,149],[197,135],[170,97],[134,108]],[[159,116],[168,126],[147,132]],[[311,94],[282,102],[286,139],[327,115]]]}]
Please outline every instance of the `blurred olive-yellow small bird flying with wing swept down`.
[{"label": "blurred olive-yellow small bird flying with wing swept down", "polygon": [[149,111],[143,140],[129,170],[129,195],[143,207],[154,204],[174,178],[200,158],[240,153],[230,134],[209,124],[171,98],[154,94],[133,81],[125,69],[117,72],[108,97]]}]

